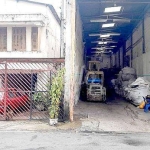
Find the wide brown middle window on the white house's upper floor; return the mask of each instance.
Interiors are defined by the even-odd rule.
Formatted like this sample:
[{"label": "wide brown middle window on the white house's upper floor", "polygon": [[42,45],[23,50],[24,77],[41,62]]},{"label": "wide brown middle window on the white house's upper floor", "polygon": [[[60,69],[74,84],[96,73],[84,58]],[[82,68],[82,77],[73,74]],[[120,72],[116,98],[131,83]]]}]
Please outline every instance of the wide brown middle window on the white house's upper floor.
[{"label": "wide brown middle window on the white house's upper floor", "polygon": [[13,51],[26,50],[26,28],[25,27],[12,28],[12,50]]}]

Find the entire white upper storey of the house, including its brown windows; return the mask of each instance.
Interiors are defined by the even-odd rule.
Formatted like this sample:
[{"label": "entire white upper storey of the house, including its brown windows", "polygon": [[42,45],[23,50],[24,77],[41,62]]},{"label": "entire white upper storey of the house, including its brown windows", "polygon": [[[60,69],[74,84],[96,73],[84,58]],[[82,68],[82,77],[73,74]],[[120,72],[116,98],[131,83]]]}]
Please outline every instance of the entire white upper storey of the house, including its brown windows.
[{"label": "entire white upper storey of the house, including its brown windows", "polygon": [[0,2],[0,58],[59,58],[60,19],[51,5]]}]

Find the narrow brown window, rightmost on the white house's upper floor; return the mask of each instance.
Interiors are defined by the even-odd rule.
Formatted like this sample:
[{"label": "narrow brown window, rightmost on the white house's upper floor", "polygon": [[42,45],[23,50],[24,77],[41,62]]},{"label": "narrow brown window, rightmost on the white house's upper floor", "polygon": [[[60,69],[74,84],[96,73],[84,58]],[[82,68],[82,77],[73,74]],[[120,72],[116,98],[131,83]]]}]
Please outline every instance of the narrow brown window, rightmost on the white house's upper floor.
[{"label": "narrow brown window, rightmost on the white house's upper floor", "polygon": [[38,27],[32,27],[31,33],[32,51],[38,50]]}]

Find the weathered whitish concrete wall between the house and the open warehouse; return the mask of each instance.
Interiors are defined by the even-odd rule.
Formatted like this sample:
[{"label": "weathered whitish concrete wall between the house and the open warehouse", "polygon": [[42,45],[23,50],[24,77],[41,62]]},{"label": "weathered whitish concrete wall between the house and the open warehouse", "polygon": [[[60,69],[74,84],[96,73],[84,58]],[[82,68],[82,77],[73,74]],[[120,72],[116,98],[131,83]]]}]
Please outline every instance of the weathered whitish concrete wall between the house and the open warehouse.
[{"label": "weathered whitish concrete wall between the house and the open warehouse", "polygon": [[76,0],[66,3],[66,49],[65,49],[65,115],[72,121],[73,107],[80,94],[80,81],[83,68],[82,22]]}]

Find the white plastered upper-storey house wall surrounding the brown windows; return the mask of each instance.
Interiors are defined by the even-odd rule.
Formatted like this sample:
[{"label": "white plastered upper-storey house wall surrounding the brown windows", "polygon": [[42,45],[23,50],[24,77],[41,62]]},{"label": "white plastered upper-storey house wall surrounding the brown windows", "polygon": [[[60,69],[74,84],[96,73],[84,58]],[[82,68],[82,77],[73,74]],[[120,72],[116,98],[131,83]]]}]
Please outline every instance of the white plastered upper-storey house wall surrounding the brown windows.
[{"label": "white plastered upper-storey house wall surrounding the brown windows", "polygon": [[[11,44],[8,46],[9,52],[0,52],[0,58],[59,58],[60,57],[60,25],[56,21],[50,9],[45,5],[33,4],[28,2],[16,0],[1,0],[0,1],[0,14],[42,14],[46,19],[46,25],[39,27],[39,49],[37,52],[30,50],[31,42],[26,39],[27,50],[24,52],[11,51]],[[16,25],[7,25],[10,28]],[[31,28],[32,25],[25,25]],[[29,34],[29,33],[28,33]],[[11,35],[11,30],[8,30],[8,36]],[[11,37],[11,36],[10,36]],[[11,39],[8,39],[10,43]]]}]

